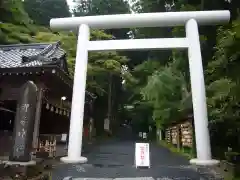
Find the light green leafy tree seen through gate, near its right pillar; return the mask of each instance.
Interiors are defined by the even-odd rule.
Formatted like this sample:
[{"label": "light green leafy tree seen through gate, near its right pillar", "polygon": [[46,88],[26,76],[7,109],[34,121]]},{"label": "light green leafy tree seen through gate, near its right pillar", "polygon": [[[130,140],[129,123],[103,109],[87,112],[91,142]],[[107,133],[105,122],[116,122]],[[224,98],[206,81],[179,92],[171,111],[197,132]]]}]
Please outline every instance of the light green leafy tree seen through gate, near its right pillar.
[{"label": "light green leafy tree seen through gate, near its right pillar", "polygon": [[144,100],[153,103],[153,119],[158,126],[175,121],[182,109],[184,77],[173,65],[155,71],[142,89]]}]

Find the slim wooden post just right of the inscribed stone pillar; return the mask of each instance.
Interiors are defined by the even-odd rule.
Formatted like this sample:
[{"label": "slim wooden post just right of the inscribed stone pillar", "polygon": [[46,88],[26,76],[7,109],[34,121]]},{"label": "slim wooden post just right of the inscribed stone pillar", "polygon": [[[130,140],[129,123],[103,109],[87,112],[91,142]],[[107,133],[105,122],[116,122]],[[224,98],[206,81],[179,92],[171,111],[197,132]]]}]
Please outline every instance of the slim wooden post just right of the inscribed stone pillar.
[{"label": "slim wooden post just right of the inscribed stone pillar", "polygon": [[33,148],[36,149],[38,147],[38,136],[39,136],[39,127],[40,127],[40,119],[41,119],[41,111],[42,111],[42,100],[43,100],[43,88],[40,86],[37,95],[37,107],[35,114],[35,123],[34,123],[34,131],[33,131]]}]

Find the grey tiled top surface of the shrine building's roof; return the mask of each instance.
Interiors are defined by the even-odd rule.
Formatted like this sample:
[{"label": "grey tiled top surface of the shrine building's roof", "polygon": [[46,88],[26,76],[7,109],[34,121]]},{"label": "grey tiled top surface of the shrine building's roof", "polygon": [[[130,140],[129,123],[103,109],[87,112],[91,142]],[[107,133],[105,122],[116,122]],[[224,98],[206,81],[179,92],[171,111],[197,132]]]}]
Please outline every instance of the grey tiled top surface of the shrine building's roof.
[{"label": "grey tiled top surface of the shrine building's roof", "polygon": [[65,51],[60,42],[0,46],[0,68],[40,67],[58,64]]}]

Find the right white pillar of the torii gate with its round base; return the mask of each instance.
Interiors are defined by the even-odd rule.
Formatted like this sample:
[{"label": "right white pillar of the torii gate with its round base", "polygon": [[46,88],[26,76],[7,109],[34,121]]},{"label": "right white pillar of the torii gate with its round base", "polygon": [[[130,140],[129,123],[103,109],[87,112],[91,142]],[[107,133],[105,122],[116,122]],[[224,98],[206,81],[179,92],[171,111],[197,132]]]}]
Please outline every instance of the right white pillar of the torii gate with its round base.
[{"label": "right white pillar of the torii gate with its round base", "polygon": [[188,20],[186,24],[186,38],[188,41],[188,59],[197,149],[197,159],[190,160],[190,163],[215,165],[219,161],[212,160],[211,156],[202,55],[198,24],[195,19]]}]

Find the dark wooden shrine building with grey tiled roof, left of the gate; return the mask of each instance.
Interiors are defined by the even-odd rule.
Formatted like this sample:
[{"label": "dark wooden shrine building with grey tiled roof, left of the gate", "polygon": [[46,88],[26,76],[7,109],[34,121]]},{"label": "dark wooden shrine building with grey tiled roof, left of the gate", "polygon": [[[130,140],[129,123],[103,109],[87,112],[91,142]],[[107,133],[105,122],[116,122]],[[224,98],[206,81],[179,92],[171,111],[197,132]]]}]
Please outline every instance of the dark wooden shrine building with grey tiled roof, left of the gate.
[{"label": "dark wooden shrine building with grey tiled roof, left of the gate", "polygon": [[[42,134],[69,131],[73,80],[60,42],[0,45],[0,156],[11,147],[19,90],[29,80],[38,89],[33,147]],[[88,121],[94,95],[86,92],[85,99],[84,121]]]}]

